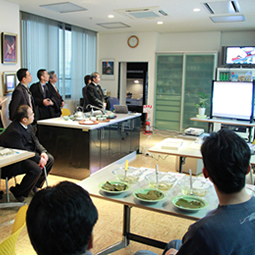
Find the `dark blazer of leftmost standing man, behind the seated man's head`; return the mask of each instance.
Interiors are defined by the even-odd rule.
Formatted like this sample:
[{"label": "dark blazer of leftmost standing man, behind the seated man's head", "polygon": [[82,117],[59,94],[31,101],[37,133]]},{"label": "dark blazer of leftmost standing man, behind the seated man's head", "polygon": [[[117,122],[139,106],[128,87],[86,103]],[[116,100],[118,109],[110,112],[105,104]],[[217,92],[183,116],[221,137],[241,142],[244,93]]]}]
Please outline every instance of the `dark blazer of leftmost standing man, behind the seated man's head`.
[{"label": "dark blazer of leftmost standing man, behind the seated man's head", "polygon": [[9,118],[11,120],[14,120],[15,113],[20,105],[29,105],[29,94],[31,95],[31,103],[32,103],[32,110],[35,114],[34,122],[33,124],[36,123],[36,119],[38,118],[38,110],[35,105],[33,96],[29,90],[29,88],[26,88],[24,85],[21,85],[20,83],[18,86],[15,88],[15,90],[12,93],[12,99],[9,104]]}]

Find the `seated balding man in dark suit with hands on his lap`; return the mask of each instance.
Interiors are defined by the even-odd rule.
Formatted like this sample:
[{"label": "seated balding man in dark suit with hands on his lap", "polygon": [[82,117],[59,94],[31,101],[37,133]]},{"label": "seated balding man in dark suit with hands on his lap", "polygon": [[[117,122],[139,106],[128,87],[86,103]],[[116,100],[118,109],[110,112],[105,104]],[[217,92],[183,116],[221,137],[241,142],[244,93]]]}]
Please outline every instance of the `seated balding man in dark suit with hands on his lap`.
[{"label": "seated balding man in dark suit with hands on his lap", "polygon": [[20,184],[10,188],[10,191],[20,202],[28,197],[31,190],[36,193],[38,188],[43,186],[45,176],[42,168],[45,166],[49,173],[54,163],[53,156],[40,144],[33,133],[33,128],[30,125],[33,120],[32,109],[28,105],[21,105],[16,111],[13,122],[0,136],[1,146],[35,152],[34,157],[2,169],[3,176],[26,174]]}]

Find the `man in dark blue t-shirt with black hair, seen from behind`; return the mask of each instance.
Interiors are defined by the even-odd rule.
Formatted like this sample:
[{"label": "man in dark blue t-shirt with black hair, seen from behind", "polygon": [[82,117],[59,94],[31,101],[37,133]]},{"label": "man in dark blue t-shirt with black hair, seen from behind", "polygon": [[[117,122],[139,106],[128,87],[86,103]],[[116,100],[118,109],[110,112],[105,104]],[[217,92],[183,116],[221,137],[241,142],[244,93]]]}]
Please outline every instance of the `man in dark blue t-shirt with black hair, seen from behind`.
[{"label": "man in dark blue t-shirt with black hair, seen from behind", "polygon": [[[219,206],[189,227],[179,251],[170,242],[164,254],[255,254],[255,197],[245,189],[251,168],[248,145],[233,131],[222,129],[206,138],[201,153],[203,174],[213,182]],[[181,242],[174,241],[175,247]]]}]

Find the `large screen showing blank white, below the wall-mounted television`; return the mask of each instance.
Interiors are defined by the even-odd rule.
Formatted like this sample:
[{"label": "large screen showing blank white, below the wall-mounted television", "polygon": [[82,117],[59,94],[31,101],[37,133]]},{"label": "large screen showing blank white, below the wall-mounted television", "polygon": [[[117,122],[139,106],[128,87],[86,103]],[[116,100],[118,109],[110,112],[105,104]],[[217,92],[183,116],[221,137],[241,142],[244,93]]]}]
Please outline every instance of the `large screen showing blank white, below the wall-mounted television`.
[{"label": "large screen showing blank white, below the wall-mounted television", "polygon": [[254,81],[213,81],[210,117],[253,122]]}]

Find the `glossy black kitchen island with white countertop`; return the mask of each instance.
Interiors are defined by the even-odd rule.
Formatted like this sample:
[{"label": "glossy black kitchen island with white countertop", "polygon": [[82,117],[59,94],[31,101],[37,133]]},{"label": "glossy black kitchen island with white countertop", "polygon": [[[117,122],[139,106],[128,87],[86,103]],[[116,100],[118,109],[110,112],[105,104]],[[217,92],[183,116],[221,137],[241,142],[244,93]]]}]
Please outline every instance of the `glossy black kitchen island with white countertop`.
[{"label": "glossy black kitchen island with white countertop", "polygon": [[137,152],[140,145],[141,114],[116,114],[109,122],[81,125],[63,117],[38,121],[38,137],[54,156],[54,166],[68,160],[90,174]]}]

